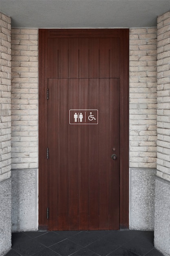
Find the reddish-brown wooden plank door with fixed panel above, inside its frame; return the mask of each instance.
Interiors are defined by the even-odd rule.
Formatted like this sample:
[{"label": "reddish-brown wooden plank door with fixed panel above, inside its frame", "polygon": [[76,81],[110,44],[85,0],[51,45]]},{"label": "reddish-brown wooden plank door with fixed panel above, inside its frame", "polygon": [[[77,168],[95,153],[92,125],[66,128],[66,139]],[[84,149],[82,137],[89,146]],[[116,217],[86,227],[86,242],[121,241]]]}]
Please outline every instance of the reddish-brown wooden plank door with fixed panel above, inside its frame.
[{"label": "reddish-brown wooden plank door with fixed panel above, inside its frame", "polygon": [[44,99],[48,229],[119,229],[124,162],[120,36],[115,30],[111,35],[104,30],[60,32],[46,33],[42,63],[48,94]]}]

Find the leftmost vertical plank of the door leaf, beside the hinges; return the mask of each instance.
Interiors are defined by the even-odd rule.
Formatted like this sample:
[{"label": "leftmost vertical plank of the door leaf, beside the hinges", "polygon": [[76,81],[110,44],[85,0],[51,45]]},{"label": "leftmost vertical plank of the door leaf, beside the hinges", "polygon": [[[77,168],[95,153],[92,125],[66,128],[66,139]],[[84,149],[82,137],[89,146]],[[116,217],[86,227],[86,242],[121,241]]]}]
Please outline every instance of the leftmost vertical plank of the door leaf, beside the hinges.
[{"label": "leftmost vertical plank of the door leaf, beside the hinges", "polygon": [[[48,134],[49,159],[48,159],[48,188],[49,188],[49,230],[58,230],[58,85],[57,79],[49,79],[49,100],[48,100]],[[53,136],[51,136],[53,134]]]}]

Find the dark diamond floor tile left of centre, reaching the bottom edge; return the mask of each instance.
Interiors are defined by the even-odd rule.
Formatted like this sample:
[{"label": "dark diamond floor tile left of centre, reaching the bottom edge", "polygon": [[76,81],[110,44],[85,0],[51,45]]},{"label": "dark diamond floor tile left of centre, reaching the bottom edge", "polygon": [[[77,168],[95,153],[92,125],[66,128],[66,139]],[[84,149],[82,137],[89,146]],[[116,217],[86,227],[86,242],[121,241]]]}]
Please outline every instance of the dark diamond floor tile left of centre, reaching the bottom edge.
[{"label": "dark diamond floor tile left of centre, reaching the bottom edge", "polygon": [[82,246],[77,245],[68,239],[65,239],[55,245],[52,245],[49,248],[62,256],[68,256],[74,252],[77,252],[79,249],[82,249]]}]

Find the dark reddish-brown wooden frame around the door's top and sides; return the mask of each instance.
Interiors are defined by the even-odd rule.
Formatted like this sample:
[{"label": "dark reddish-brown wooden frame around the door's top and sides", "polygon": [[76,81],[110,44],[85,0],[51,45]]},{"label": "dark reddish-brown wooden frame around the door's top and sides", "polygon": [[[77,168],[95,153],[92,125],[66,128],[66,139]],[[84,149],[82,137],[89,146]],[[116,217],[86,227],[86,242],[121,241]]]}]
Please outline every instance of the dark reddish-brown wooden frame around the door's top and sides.
[{"label": "dark reddish-brown wooden frame around the door's top and sides", "polygon": [[120,38],[120,229],[129,227],[129,29],[39,29],[39,230],[48,229],[48,101],[47,37],[53,31],[60,35],[98,34]]}]

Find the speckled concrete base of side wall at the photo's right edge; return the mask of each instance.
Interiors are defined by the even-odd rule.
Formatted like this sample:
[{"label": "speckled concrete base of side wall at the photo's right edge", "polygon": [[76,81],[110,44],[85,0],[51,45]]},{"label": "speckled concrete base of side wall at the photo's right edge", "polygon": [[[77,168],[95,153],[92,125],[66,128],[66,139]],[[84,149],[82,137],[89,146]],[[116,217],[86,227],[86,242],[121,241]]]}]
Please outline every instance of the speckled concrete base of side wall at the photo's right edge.
[{"label": "speckled concrete base of side wall at the photo's right edge", "polygon": [[154,245],[170,256],[170,182],[156,177]]}]

